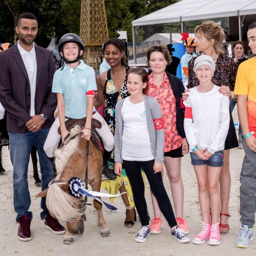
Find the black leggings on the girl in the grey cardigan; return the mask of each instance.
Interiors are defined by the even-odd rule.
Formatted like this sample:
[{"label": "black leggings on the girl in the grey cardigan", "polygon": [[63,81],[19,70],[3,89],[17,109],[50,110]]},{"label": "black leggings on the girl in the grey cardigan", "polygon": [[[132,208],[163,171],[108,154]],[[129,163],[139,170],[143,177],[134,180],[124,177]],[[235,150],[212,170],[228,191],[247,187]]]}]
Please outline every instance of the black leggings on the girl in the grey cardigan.
[{"label": "black leggings on the girl in the grey cardigan", "polygon": [[165,216],[169,226],[172,228],[177,225],[173,208],[166,189],[163,184],[162,174],[154,173],[154,159],[150,161],[126,161],[124,168],[132,186],[134,196],[134,203],[138,211],[142,226],[149,224],[147,218],[147,203],[144,195],[145,187],[143,178],[141,176],[141,167],[144,170],[147,180],[150,184],[151,190],[158,201],[158,205],[162,214]]}]

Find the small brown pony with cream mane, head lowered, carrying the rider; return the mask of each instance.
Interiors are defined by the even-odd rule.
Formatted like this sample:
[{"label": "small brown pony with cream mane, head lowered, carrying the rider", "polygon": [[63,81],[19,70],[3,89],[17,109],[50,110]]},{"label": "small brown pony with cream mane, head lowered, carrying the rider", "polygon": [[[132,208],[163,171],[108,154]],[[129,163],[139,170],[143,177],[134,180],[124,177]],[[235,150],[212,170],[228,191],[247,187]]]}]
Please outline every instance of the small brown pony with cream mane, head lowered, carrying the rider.
[{"label": "small brown pony with cream mane, head lowered, carrying the rider", "polygon": [[[75,126],[70,131],[70,135],[75,136],[82,131],[80,126]],[[94,143],[89,141],[89,156],[87,163],[87,140],[76,136],[70,140],[64,147],[54,152],[56,158],[55,165],[57,176],[45,191],[36,195],[36,197],[46,196],[46,205],[52,216],[59,220],[66,221],[64,244],[70,244],[74,241],[73,236],[82,236],[84,233],[85,213],[83,211],[82,201],[70,196],[68,193],[68,181],[72,177],[78,177],[85,181],[86,166],[88,168],[88,183],[93,191],[100,191],[102,175],[102,153],[98,151]],[[109,228],[106,226],[102,214],[102,203],[93,201],[94,207],[98,213],[98,226],[102,237],[110,235]]]}]

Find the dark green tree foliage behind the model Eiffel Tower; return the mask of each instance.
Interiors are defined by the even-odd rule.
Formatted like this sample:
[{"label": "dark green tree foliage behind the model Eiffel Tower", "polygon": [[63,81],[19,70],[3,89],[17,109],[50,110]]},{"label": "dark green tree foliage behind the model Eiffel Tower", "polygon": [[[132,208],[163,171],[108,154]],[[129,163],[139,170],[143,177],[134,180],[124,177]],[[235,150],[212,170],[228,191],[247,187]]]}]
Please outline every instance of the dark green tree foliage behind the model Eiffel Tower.
[{"label": "dark green tree foliage behind the model Eiffel Tower", "polygon": [[[135,19],[164,8],[178,0],[105,0],[109,37],[118,37],[117,31],[126,30],[132,41]],[[38,19],[36,43],[47,47],[53,37],[80,31],[81,0],[0,0],[0,42],[15,42],[15,26],[23,12],[31,12]],[[139,34],[144,33],[139,30]],[[141,37],[142,38],[142,37]]]}]

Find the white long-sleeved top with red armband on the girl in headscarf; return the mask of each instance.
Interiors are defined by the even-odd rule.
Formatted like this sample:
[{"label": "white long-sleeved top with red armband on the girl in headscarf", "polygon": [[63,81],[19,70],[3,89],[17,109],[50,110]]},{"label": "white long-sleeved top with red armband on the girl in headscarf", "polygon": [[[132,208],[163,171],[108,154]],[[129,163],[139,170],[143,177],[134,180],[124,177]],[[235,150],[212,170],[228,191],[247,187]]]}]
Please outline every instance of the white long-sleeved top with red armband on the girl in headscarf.
[{"label": "white long-sleeved top with red armband on the girl in headscarf", "polygon": [[[230,125],[228,96],[224,96],[214,85],[207,93],[200,93],[197,87],[190,89],[186,106],[184,130],[189,144],[189,151],[197,146],[208,149],[211,154],[224,149],[225,139]],[[189,109],[192,110],[192,116]]]}]

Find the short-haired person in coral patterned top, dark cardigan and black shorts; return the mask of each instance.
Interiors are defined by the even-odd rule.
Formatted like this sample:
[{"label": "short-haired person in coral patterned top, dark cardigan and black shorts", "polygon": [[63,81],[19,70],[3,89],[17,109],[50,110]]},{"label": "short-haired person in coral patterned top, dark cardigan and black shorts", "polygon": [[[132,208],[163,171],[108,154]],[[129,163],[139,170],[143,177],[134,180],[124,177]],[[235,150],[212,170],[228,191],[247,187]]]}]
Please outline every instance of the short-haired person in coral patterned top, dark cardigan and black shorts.
[{"label": "short-haired person in coral patterned top, dark cardigan and black shorts", "polygon": [[[165,71],[166,66],[171,61],[166,45],[154,45],[148,49],[147,64],[152,72],[149,74],[147,94],[158,100],[162,110],[165,132],[164,164],[172,189],[176,221],[178,226],[187,234],[189,228],[183,218],[184,186],[181,178],[181,157],[188,154],[188,143],[183,127],[184,105],[181,100],[184,86],[180,79]],[[161,233],[163,223],[161,211],[152,193],[151,198],[154,207],[154,219],[150,230],[151,233]]]}]

